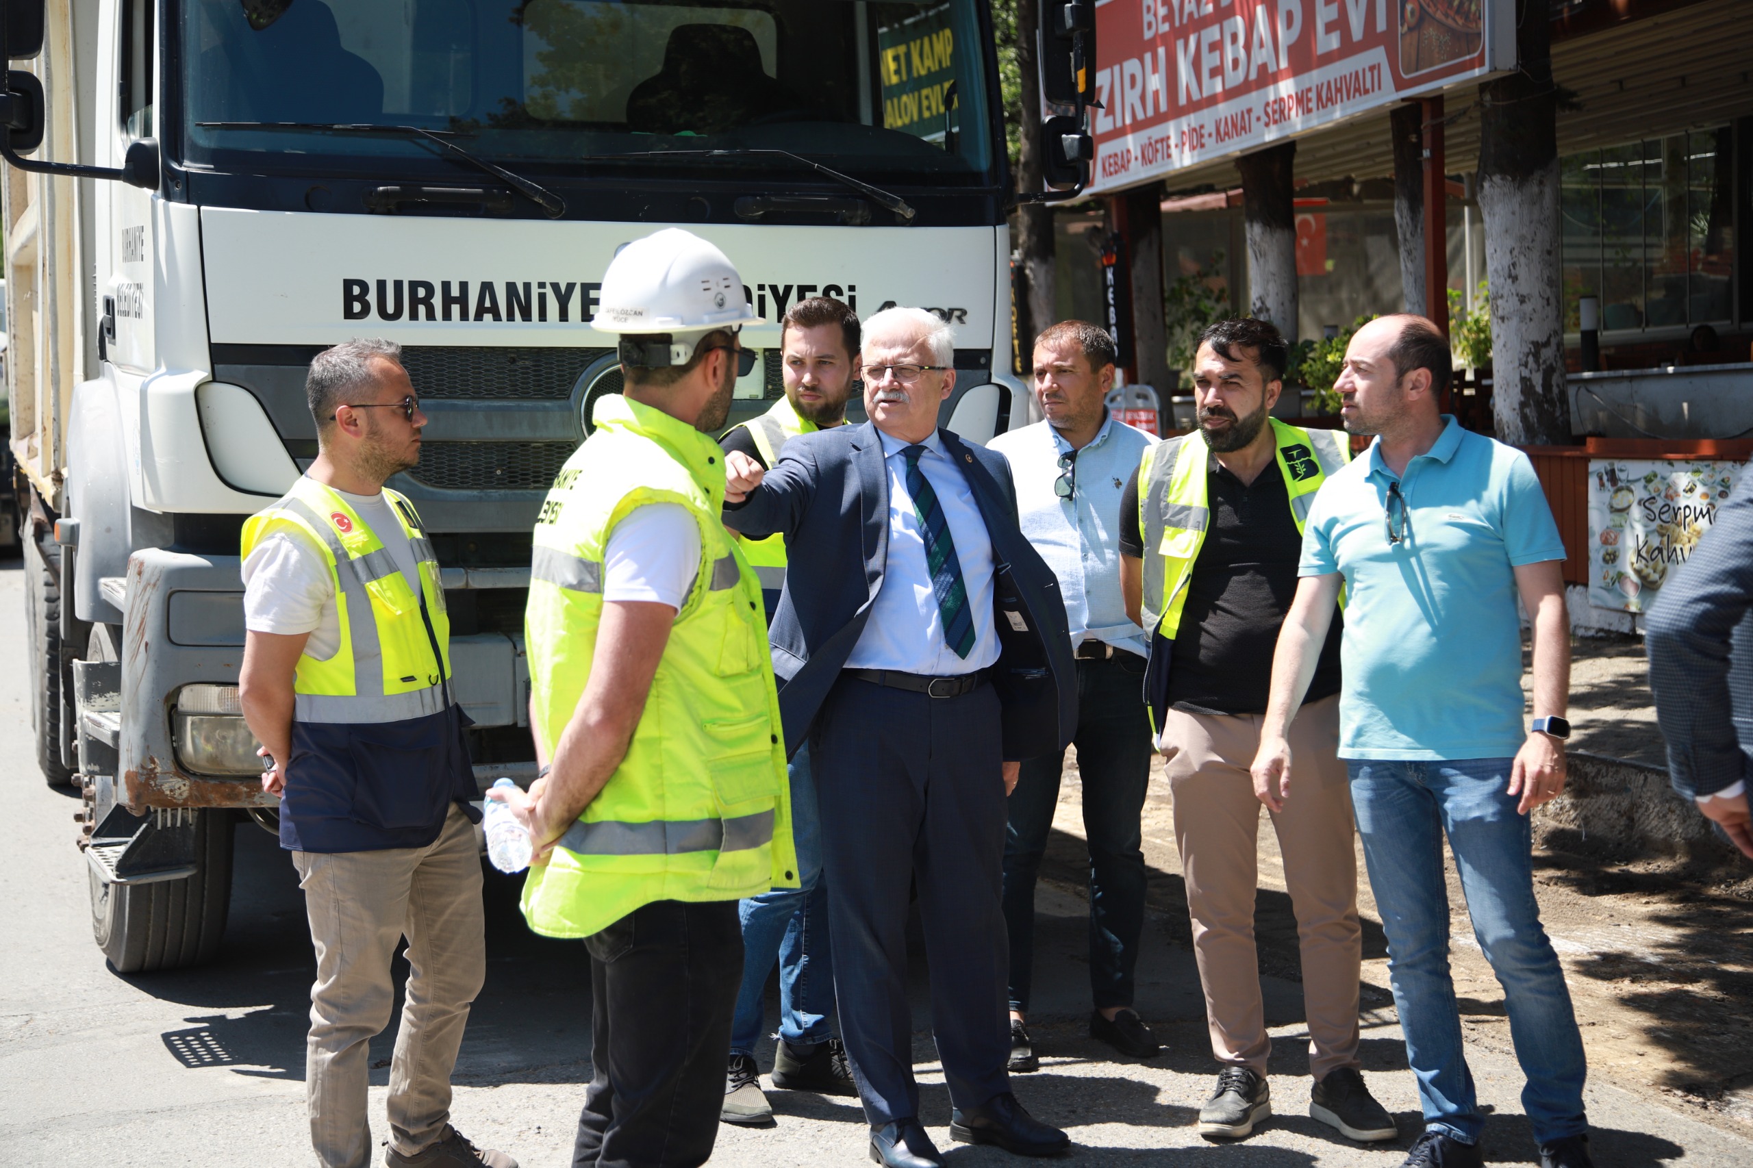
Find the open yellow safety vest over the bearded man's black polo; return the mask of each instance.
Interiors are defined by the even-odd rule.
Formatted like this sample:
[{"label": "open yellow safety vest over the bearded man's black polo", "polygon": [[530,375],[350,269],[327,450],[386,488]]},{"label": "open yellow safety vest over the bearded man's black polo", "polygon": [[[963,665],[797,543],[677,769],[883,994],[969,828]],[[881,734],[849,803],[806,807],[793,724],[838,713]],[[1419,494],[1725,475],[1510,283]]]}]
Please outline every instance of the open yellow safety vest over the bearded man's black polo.
[{"label": "open yellow safety vest over the bearded man's black polo", "polygon": [[[1315,491],[1348,461],[1345,431],[1299,430],[1271,419],[1278,472],[1285,477],[1297,533],[1308,521]],[[1145,628],[1175,640],[1187,607],[1199,549],[1211,526],[1211,451],[1199,435],[1182,435],[1146,447],[1138,468],[1138,523],[1145,535]],[[1343,602],[1341,602],[1343,603]],[[1152,638],[1155,644],[1155,638]]]}]

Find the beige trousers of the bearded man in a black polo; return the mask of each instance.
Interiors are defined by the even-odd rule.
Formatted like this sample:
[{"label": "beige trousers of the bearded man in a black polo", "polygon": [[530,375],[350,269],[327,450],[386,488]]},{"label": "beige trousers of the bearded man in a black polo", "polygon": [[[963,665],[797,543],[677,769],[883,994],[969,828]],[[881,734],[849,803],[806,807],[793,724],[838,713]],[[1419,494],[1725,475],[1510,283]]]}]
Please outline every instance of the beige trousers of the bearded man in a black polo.
[{"label": "beige trousers of the bearded man in a black polo", "polygon": [[[1271,1038],[1253,947],[1260,801],[1248,766],[1260,745],[1259,716],[1169,710],[1162,744],[1175,794],[1194,956],[1204,987],[1211,1054],[1218,1063],[1266,1073]],[[1309,1072],[1324,1079],[1357,1066],[1357,989],[1362,929],[1357,924],[1357,852],[1352,793],[1339,747],[1339,698],[1304,705],[1290,724],[1292,775],[1285,810],[1273,814],[1285,884],[1302,949],[1302,1008]],[[1269,812],[1271,814],[1271,812]]]}]

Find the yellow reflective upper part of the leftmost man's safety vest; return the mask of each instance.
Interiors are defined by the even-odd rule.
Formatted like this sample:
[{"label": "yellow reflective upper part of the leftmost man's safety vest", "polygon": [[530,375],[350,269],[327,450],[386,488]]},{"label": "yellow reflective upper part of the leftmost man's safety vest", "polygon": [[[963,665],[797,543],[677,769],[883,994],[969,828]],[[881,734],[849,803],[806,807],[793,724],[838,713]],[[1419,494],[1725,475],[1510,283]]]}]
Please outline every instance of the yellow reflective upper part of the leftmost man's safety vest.
[{"label": "yellow reflective upper part of the leftmost man's safety vest", "polygon": [[444,607],[438,558],[412,503],[389,488],[384,496],[419,561],[421,596],[408,588],[377,533],[337,491],[309,475],[300,477],[280,502],[244,521],[245,558],[268,535],[298,530],[323,551],[335,580],[340,649],[326,661],[309,652],[298,658],[293,721],[396,723],[438,714],[447,705],[451,617]]}]

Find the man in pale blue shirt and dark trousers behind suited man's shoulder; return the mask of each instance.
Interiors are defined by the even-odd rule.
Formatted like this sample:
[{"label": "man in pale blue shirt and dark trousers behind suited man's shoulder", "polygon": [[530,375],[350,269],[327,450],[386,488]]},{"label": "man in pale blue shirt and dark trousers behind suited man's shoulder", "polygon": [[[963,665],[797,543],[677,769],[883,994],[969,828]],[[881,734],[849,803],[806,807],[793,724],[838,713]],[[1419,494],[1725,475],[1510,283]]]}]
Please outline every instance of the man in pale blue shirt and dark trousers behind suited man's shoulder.
[{"label": "man in pale blue shirt and dark trousers behind suited man's shoulder", "polygon": [[[1132,1010],[1132,968],[1145,922],[1139,815],[1150,780],[1150,721],[1141,700],[1145,630],[1120,595],[1120,495],[1155,438],[1108,414],[1113,338],[1062,321],[1034,342],[1034,395],[1045,421],[999,435],[1017,482],[1022,533],[1059,577],[1078,658],[1078,773],[1090,854],[1090,1035],[1122,1054],[1159,1045]],[[1004,837],[1010,929],[1010,1070],[1040,1068],[1027,1031],[1034,966],[1034,882],[1059,803],[1064,752],[1024,761]]]}]

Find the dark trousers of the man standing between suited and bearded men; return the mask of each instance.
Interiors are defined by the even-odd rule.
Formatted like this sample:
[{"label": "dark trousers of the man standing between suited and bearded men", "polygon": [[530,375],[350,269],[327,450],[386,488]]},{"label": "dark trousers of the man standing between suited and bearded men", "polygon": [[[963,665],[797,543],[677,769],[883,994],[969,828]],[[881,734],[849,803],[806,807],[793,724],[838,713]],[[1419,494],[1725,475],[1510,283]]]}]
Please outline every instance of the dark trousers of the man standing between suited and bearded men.
[{"label": "dark trousers of the man standing between suited and bearded men", "polygon": [[[1132,1005],[1132,970],[1145,928],[1145,852],[1139,814],[1150,784],[1150,719],[1139,700],[1145,659],[1118,652],[1078,661],[1078,773],[1089,840],[1090,998],[1097,1010]],[[1024,759],[1008,800],[1004,926],[1010,933],[1010,1008],[1029,1010],[1034,980],[1034,884],[1059,805],[1064,754]]]}]

